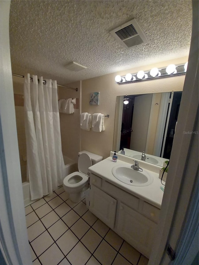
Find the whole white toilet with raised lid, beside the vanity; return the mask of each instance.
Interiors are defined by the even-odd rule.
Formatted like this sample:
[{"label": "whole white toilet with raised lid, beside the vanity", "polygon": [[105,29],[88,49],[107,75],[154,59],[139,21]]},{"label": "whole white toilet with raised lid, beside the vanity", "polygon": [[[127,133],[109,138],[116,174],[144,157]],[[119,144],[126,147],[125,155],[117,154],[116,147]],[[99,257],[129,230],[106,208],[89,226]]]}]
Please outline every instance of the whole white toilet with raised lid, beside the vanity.
[{"label": "whole white toilet with raised lid, beside the vanity", "polygon": [[73,202],[79,202],[85,198],[85,190],[89,188],[90,172],[88,172],[88,168],[103,159],[102,156],[86,150],[79,152],[78,156],[79,171],[69,174],[63,180],[63,188]]}]

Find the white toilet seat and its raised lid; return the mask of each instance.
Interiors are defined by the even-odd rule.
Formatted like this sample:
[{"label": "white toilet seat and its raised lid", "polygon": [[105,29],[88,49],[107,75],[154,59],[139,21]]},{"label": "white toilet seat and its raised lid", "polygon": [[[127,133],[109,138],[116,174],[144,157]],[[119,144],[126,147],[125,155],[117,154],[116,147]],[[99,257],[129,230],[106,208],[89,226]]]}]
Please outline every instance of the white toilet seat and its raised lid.
[{"label": "white toilet seat and its raised lid", "polygon": [[[80,187],[81,185],[85,184],[86,181],[88,180],[88,176],[87,176],[88,168],[91,166],[92,166],[92,161],[90,157],[86,153],[81,154],[78,159],[78,170],[79,171],[73,172],[69,174],[68,176],[66,176],[63,180],[63,184],[69,188],[76,188],[76,187]],[[75,177],[77,179],[77,182],[69,183],[70,180],[72,180],[73,178],[75,179]]]}]

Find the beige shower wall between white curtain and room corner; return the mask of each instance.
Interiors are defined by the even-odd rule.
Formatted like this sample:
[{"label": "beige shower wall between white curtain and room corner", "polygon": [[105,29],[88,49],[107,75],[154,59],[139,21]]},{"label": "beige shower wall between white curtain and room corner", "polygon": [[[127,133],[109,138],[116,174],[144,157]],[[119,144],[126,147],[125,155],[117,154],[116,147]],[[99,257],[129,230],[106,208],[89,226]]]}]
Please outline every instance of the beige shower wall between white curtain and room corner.
[{"label": "beige shower wall between white curtain and room corner", "polygon": [[80,107],[81,107],[81,82],[74,82],[68,84],[69,87],[78,88],[78,91],[58,87],[58,98],[78,98],[78,109],[74,109],[74,113],[65,114],[59,113],[61,139],[62,139],[62,153],[67,157],[78,160],[78,152],[80,151]]}]

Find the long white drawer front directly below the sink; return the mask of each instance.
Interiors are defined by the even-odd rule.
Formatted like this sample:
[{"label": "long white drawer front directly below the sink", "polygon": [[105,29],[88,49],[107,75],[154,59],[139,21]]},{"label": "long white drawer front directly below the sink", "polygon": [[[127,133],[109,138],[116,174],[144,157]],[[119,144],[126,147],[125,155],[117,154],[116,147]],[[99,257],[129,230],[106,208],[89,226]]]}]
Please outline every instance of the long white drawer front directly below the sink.
[{"label": "long white drawer front directly below the sink", "polygon": [[125,203],[129,207],[138,210],[139,207],[139,199],[135,196],[133,196],[130,193],[127,193],[124,190],[121,190],[120,188],[116,187],[115,185],[110,184],[109,182],[103,180],[102,181],[102,189],[108,193],[109,195],[113,196],[114,198],[117,198],[121,202]]}]

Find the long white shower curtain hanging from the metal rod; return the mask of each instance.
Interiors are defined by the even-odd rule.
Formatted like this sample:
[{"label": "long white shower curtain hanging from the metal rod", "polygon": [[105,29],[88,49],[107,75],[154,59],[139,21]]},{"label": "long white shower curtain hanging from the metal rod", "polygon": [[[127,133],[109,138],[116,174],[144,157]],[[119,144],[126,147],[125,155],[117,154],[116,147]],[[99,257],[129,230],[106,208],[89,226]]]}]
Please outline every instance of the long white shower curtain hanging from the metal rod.
[{"label": "long white shower curtain hanging from the metal rod", "polygon": [[24,82],[27,178],[31,199],[51,194],[63,184],[62,156],[57,81],[30,74]]}]

